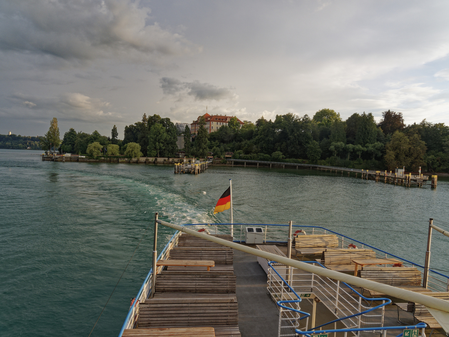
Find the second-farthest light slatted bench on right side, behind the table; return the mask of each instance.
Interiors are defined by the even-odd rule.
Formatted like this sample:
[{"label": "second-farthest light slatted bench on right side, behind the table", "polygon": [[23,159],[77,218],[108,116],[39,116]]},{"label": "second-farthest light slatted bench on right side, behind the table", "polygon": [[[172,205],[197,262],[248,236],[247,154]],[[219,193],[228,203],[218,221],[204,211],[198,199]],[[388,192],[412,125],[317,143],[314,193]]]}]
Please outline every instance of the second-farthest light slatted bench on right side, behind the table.
[{"label": "second-farthest light slatted bench on right side, behind the table", "polygon": [[321,255],[321,263],[326,268],[340,272],[354,271],[353,259],[363,260],[376,257],[372,249],[326,248]]}]

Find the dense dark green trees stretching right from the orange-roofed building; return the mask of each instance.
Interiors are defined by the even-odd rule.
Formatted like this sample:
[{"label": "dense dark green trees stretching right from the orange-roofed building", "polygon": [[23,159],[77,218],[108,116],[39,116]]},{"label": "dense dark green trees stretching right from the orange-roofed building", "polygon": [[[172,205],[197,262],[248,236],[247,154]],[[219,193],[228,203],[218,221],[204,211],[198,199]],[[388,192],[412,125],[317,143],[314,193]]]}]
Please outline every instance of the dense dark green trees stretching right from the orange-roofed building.
[{"label": "dense dark green trees stretching right from the orange-roofed building", "polygon": [[405,125],[402,113],[384,111],[376,123],[371,113],[342,120],[332,109],[312,118],[288,113],[275,120],[262,116],[241,129],[222,126],[211,133],[209,148],[218,157],[325,164],[331,166],[444,172],[449,169],[449,127],[444,123]]}]

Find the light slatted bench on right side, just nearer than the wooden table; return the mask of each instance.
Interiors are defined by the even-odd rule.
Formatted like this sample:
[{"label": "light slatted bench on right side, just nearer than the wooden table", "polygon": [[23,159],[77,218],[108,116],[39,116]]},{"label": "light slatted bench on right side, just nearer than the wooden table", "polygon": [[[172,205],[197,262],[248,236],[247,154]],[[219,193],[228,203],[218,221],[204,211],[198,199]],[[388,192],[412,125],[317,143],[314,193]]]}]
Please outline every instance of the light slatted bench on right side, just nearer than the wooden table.
[{"label": "light slatted bench on right side, just nearer than the wooden table", "polygon": [[[430,289],[421,286],[421,272],[415,267],[363,267],[359,271],[362,279],[392,285],[417,293],[430,293]],[[368,289],[367,289],[368,290]],[[371,296],[385,294],[369,290]]]}]

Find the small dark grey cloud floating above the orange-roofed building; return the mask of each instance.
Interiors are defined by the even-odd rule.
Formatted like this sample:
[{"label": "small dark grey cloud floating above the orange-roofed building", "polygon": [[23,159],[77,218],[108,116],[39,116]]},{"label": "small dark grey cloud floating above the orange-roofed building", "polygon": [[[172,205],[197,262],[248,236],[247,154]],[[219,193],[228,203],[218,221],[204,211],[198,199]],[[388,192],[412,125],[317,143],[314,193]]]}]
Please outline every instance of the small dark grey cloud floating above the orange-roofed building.
[{"label": "small dark grey cloud floating above the orange-roofed building", "polygon": [[179,95],[186,93],[192,96],[195,101],[206,101],[221,99],[232,99],[234,94],[228,88],[220,88],[209,83],[201,83],[198,80],[193,82],[181,82],[180,80],[163,77],[159,81],[164,95]]}]

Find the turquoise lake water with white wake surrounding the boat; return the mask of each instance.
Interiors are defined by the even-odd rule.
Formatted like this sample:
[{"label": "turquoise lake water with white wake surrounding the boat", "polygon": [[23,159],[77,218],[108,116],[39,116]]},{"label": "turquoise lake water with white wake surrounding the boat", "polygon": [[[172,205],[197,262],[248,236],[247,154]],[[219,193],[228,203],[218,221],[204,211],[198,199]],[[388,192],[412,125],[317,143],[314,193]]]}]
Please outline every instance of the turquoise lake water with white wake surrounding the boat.
[{"label": "turquoise lake water with white wake surrounding the boat", "polygon": [[[42,162],[36,154],[0,150],[1,336],[88,336],[154,212],[178,224],[228,222],[228,212],[212,210],[229,178],[234,222],[321,224],[420,264],[426,221],[449,222],[442,179],[432,190],[295,169],[175,175],[172,166]],[[150,269],[151,227],[91,336],[119,333]],[[160,250],[173,231],[159,228]],[[431,266],[449,270],[448,247],[434,231]]]}]

